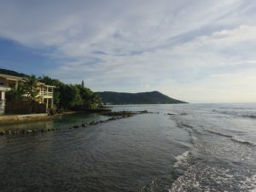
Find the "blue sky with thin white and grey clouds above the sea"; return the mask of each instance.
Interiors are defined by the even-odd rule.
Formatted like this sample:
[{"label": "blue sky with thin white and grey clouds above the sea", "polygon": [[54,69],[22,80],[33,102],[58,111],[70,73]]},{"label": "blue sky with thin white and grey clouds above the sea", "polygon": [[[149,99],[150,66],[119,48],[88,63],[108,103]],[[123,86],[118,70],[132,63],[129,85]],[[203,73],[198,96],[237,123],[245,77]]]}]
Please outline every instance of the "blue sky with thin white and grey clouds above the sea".
[{"label": "blue sky with thin white and grey clouds above the sea", "polygon": [[254,0],[0,0],[0,68],[94,91],[256,102]]}]

